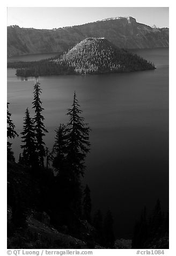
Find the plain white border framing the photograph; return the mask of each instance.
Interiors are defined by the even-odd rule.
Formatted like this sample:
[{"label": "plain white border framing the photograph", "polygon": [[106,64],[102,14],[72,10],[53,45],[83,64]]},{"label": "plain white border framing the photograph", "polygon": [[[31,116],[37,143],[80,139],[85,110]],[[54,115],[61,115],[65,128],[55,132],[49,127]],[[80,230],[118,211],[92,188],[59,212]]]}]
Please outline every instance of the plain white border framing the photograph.
[{"label": "plain white border framing the photograph", "polygon": [[[118,3],[118,5],[117,5]],[[49,1],[40,3],[40,1],[31,0],[29,2],[25,1],[7,1],[6,3],[1,3],[0,8],[0,17],[1,17],[1,55],[3,55],[3,59],[1,59],[1,184],[0,184],[0,195],[1,195],[1,247],[0,252],[1,255],[6,255],[6,17],[7,17],[7,6],[9,7],[170,7],[170,249],[165,250],[165,255],[175,255],[176,247],[175,247],[175,173],[176,173],[176,94],[175,94],[175,33],[176,33],[176,15],[175,15],[175,4],[174,1],[133,1],[133,5],[131,5],[131,1],[106,1],[104,3],[100,1],[67,1],[67,2],[58,2],[58,1]],[[93,255],[135,255],[136,250],[93,250]]]}]

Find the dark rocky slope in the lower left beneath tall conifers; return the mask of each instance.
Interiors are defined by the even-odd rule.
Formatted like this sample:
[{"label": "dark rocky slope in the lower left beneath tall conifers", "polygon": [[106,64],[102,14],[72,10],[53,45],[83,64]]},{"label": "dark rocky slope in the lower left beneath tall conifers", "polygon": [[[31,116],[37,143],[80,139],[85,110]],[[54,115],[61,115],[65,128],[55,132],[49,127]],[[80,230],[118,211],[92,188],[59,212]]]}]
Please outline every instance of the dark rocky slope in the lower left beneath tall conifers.
[{"label": "dark rocky slope in the lower left beneath tall conifers", "polygon": [[102,248],[96,229],[74,213],[62,224],[55,179],[8,161],[8,248]]}]

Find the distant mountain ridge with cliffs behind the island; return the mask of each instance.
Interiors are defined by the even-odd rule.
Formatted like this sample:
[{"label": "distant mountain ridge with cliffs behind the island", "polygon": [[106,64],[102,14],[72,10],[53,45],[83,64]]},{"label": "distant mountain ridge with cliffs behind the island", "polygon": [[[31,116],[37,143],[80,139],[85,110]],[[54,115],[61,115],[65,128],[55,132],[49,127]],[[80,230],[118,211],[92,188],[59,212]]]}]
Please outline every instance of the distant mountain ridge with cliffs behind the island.
[{"label": "distant mountain ridge with cliffs behind the island", "polygon": [[168,47],[167,28],[157,29],[133,17],[116,17],[54,30],[8,27],[8,56],[64,52],[87,37],[105,37],[120,48]]}]

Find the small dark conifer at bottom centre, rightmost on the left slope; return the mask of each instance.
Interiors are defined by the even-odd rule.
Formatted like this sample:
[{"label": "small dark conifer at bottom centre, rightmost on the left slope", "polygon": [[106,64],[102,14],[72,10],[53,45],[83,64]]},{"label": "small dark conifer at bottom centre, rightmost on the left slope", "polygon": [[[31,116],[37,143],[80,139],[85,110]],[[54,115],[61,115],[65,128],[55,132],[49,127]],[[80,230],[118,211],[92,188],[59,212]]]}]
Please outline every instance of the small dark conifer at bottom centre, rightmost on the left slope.
[{"label": "small dark conifer at bottom centre, rightmost on the left slope", "polygon": [[107,211],[104,219],[103,235],[105,246],[113,248],[115,237],[113,232],[113,217],[110,210]]}]

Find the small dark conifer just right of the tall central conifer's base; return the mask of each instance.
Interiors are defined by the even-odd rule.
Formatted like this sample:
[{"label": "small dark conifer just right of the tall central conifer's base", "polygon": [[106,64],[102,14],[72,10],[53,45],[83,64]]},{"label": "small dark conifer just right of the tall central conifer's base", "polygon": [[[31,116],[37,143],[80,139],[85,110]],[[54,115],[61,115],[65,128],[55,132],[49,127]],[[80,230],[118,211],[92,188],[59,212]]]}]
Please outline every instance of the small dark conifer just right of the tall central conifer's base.
[{"label": "small dark conifer just right of the tall central conifer's base", "polygon": [[87,222],[91,223],[91,196],[90,196],[90,188],[86,185],[84,189],[84,198],[83,198],[83,218],[87,220]]}]

